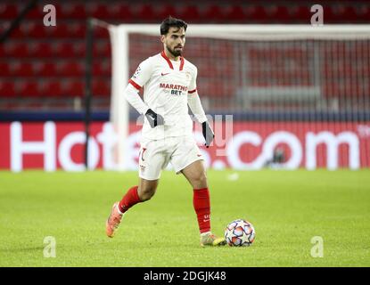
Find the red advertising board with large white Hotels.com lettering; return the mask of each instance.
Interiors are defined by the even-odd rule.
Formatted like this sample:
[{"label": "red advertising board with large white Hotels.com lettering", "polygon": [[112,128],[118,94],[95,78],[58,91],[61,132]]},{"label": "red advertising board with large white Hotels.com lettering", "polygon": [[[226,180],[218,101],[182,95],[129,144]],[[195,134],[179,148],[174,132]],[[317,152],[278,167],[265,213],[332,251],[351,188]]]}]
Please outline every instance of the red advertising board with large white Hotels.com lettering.
[{"label": "red advertising board with large white Hotels.com lettering", "polygon": [[[370,167],[370,122],[234,122],[231,130],[226,128],[225,123],[214,125],[216,137],[208,149],[202,146],[201,129],[194,129],[207,167],[241,170]],[[127,169],[137,169],[140,130],[141,126],[135,123],[129,126]],[[85,169],[86,138],[82,123],[2,123],[0,134],[1,169]],[[111,123],[93,123],[89,167],[114,169],[117,141]]]}]

